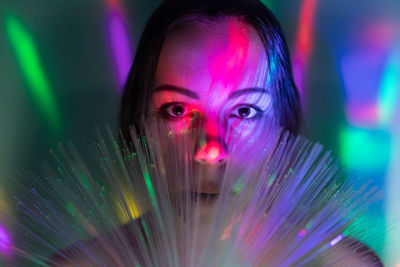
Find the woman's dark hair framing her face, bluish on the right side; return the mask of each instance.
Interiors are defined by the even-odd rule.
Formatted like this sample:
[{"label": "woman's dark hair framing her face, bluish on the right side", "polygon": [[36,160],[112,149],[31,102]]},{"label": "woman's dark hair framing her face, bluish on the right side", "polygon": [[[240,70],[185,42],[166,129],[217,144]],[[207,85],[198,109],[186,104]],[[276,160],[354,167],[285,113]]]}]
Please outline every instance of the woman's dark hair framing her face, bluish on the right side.
[{"label": "woman's dark hair framing her face, bluish on the right side", "polygon": [[299,94],[285,37],[271,11],[258,0],[166,0],[153,12],[143,31],[125,84],[119,114],[125,140],[130,140],[130,125],[135,125],[139,132],[142,130],[158,58],[169,30],[180,19],[193,15],[209,20],[238,16],[254,27],[269,59],[268,73],[277,122],[283,129],[297,133],[301,118]]}]

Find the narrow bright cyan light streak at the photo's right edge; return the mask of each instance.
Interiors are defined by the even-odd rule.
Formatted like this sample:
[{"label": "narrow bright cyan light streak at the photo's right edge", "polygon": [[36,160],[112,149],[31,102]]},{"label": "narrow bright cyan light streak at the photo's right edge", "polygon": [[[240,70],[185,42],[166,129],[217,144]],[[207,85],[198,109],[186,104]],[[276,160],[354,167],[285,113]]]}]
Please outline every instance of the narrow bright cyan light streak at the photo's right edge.
[{"label": "narrow bright cyan light streak at the photo's right edge", "polygon": [[379,123],[390,124],[393,119],[400,87],[400,53],[394,53],[388,61],[383,73],[379,95]]}]

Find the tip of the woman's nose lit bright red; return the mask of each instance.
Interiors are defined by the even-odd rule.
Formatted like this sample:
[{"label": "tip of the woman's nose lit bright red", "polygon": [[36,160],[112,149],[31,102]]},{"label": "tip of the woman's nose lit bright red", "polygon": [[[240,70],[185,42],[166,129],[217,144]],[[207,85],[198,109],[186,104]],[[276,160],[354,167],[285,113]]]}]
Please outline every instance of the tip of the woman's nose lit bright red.
[{"label": "tip of the woman's nose lit bright red", "polygon": [[216,140],[207,141],[196,151],[194,159],[201,164],[217,164],[226,163],[228,154],[225,145]]}]

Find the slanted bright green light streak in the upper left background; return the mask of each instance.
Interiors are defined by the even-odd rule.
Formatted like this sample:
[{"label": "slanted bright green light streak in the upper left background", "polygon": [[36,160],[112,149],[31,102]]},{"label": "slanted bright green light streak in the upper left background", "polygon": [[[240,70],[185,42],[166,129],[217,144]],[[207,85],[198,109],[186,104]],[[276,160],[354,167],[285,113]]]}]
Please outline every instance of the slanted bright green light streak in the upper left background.
[{"label": "slanted bright green light streak in the upper left background", "polygon": [[43,112],[53,131],[59,133],[61,131],[59,111],[32,38],[21,23],[11,15],[6,17],[6,32],[35,104]]}]

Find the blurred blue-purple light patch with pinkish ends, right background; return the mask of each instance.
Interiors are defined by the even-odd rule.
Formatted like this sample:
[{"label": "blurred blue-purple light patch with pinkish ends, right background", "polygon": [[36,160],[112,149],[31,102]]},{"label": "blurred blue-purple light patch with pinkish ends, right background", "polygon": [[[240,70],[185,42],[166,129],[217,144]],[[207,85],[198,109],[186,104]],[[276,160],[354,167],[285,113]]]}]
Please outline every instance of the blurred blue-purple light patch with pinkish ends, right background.
[{"label": "blurred blue-purple light patch with pinkish ends, right background", "polygon": [[[387,22],[365,25],[361,30],[357,27],[352,44],[341,56],[339,66],[346,96],[347,119],[353,126],[379,126],[382,83],[387,82],[391,87],[391,77],[396,76],[390,73],[395,68],[386,68],[397,33],[393,25]],[[390,70],[388,77],[385,76],[387,70]],[[388,97],[385,99],[388,100]]]}]

